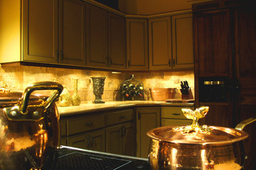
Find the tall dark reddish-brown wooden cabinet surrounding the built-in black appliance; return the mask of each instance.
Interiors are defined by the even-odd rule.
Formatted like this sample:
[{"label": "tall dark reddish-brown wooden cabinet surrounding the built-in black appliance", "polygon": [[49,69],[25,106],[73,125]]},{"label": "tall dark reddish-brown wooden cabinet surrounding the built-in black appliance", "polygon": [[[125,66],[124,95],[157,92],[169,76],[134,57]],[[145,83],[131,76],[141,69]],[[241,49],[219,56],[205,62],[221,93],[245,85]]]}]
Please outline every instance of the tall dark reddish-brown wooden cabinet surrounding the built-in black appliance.
[{"label": "tall dark reddish-brown wooden cabinet surrounding the built-in black appliance", "polygon": [[[209,105],[204,123],[235,127],[255,116],[256,11],[249,1],[210,1],[192,5],[196,106]],[[200,80],[223,78],[226,101],[200,99]],[[256,169],[256,125],[244,128],[245,169]]]}]

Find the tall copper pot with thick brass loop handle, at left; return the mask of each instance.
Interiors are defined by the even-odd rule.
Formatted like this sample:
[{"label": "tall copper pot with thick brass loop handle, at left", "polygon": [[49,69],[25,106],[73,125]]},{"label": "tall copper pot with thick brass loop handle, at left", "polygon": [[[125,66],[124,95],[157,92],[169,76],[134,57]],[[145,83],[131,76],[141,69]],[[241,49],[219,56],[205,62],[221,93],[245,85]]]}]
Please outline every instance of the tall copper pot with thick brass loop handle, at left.
[{"label": "tall copper pot with thick brass loop handle, at left", "polygon": [[[50,97],[31,95],[54,90]],[[59,143],[56,104],[63,87],[36,82],[24,93],[0,89],[0,169],[41,169]]]}]

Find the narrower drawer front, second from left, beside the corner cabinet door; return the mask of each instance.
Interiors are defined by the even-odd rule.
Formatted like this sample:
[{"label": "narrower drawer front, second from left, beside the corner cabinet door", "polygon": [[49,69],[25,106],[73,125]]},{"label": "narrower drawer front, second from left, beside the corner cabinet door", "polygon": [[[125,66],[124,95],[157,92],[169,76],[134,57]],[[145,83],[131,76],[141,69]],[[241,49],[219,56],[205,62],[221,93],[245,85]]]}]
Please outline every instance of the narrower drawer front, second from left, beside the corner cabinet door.
[{"label": "narrower drawer front, second from left, beside the corner cabinet door", "polygon": [[135,113],[133,109],[120,110],[118,112],[111,112],[107,114],[107,125],[119,124],[121,122],[126,122],[135,119]]}]

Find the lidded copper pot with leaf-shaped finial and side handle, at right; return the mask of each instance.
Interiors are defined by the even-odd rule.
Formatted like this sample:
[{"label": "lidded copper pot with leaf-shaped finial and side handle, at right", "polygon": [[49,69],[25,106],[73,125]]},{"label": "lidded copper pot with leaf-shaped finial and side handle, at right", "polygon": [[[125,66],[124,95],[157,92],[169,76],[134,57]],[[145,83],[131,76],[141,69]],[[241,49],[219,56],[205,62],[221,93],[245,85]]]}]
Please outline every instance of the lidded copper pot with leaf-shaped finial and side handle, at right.
[{"label": "lidded copper pot with leaf-shaped finial and side handle, at right", "polygon": [[[190,110],[190,113],[202,118],[207,111],[200,114]],[[195,120],[191,126],[165,126],[148,131],[151,138],[148,158],[152,169],[243,169],[242,141],[248,134],[242,129],[256,117],[232,129],[200,126],[198,118],[188,112],[184,115]]]}]

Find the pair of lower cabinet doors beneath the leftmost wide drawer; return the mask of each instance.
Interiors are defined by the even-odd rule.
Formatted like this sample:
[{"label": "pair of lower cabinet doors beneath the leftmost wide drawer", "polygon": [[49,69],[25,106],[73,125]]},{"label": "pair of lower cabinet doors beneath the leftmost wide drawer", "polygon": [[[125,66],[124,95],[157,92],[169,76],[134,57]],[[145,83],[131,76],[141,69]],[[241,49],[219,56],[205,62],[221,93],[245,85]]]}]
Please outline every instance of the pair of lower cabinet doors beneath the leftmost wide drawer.
[{"label": "pair of lower cabinet doors beneath the leftmost wide drawer", "polygon": [[91,131],[83,135],[69,137],[68,145],[75,148],[84,148],[105,152],[105,129]]}]

